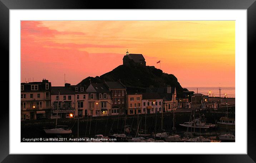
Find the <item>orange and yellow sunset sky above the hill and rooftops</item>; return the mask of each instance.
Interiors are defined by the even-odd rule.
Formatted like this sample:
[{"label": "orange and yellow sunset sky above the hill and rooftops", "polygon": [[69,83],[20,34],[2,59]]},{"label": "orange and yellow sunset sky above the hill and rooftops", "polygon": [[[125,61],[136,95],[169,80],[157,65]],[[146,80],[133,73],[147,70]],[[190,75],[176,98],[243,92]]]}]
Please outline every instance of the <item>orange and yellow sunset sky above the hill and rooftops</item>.
[{"label": "orange and yellow sunset sky above the hill and rooftops", "polygon": [[21,21],[21,82],[75,85],[122,65],[126,50],[183,87],[235,86],[235,21]]}]

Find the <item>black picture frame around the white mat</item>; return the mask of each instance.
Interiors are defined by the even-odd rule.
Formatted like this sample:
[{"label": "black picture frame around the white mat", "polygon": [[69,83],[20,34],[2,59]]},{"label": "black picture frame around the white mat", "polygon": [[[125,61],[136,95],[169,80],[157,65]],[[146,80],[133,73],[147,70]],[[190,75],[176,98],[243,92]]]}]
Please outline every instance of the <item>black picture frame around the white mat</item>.
[{"label": "black picture frame around the white mat", "polygon": [[[256,80],[253,78],[253,55],[256,54],[256,2],[255,0],[144,0],[144,1],[88,1],[88,0],[0,0],[0,40],[1,40],[1,57],[5,63],[9,63],[9,10],[10,9],[247,9],[247,86],[245,89],[256,87]],[[246,54],[245,54],[246,56]],[[3,62],[2,62],[3,63]],[[6,72],[8,65],[1,64],[1,70],[5,71],[6,76],[1,77],[0,83],[4,92],[9,92],[9,71]],[[9,67],[9,66],[8,66]],[[237,82],[237,81],[236,81]],[[7,87],[9,86],[9,87]],[[247,97],[254,98],[252,91],[247,91]],[[130,155],[100,155],[100,157],[91,155],[14,155],[9,154],[9,93],[2,93],[1,99],[6,99],[4,103],[7,105],[1,109],[1,127],[0,127],[0,161],[2,162],[74,162],[82,159],[89,161],[96,159],[97,162],[113,162],[114,159],[122,162],[143,161],[152,162],[155,158],[163,161],[163,156],[136,155],[136,158]],[[8,99],[8,102],[7,102]],[[249,98],[248,98],[249,99]],[[253,100],[247,100],[248,108]],[[246,108],[246,106],[245,106]],[[238,109],[245,109],[238,108]],[[247,109],[247,154],[184,154],[164,156],[167,161],[181,160],[182,162],[197,163],[253,163],[256,161],[256,138],[255,138],[255,114],[251,107]],[[227,147],[228,149],[228,147]]]}]

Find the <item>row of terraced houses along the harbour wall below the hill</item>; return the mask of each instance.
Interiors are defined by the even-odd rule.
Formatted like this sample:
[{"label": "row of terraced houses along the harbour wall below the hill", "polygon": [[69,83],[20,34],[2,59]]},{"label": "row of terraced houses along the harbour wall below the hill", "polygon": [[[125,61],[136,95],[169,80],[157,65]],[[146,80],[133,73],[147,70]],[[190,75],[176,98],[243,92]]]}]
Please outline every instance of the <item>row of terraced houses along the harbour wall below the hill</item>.
[{"label": "row of terraced houses along the harbour wall below the hill", "polygon": [[21,83],[21,120],[69,118],[71,114],[85,117],[162,113],[177,109],[177,105],[176,89],[171,86],[127,93],[120,81],[89,86],[51,86],[46,79]]}]

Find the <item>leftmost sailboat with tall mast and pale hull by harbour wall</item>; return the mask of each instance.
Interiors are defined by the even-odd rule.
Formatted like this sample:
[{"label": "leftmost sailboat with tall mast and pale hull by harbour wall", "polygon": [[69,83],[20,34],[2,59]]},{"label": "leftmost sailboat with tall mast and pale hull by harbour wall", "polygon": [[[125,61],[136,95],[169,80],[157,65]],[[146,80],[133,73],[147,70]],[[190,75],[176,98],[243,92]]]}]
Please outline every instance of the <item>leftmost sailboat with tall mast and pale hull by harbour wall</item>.
[{"label": "leftmost sailboat with tall mast and pale hull by harbour wall", "polygon": [[[59,96],[60,97],[60,91],[59,91]],[[57,122],[58,122],[58,113],[59,113],[59,99],[58,98],[58,104],[57,104],[57,116],[56,116],[56,124],[55,124],[55,128],[52,129],[44,129],[44,132],[46,134],[71,134],[72,130],[67,128],[67,126],[65,126],[65,128],[57,128]]]}]

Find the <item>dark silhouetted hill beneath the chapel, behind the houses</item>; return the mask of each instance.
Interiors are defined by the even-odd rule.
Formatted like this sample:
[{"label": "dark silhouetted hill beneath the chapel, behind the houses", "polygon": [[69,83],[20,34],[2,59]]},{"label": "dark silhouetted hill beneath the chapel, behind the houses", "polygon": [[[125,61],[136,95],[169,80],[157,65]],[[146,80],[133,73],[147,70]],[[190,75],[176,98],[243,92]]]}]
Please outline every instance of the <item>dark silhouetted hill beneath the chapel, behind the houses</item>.
[{"label": "dark silhouetted hill beneath the chapel, behind the houses", "polygon": [[87,77],[79,84],[89,85],[92,83],[103,83],[103,81],[120,81],[127,87],[128,92],[144,92],[147,87],[165,87],[171,85],[176,87],[177,96],[181,95],[182,91],[187,91],[182,88],[178,79],[173,74],[164,73],[162,70],[154,66],[126,66],[120,65],[114,70],[107,72],[101,76]]}]

